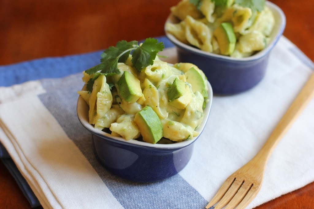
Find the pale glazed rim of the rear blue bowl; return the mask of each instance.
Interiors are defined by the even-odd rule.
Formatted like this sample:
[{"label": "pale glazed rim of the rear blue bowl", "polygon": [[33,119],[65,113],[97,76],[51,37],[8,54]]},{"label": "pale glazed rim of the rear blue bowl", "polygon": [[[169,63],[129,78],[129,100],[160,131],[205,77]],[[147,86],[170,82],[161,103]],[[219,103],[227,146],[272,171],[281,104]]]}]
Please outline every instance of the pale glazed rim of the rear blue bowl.
[{"label": "pale glazed rim of the rear blue bowl", "polygon": [[[168,22],[171,22],[170,19],[175,18],[172,14],[170,14],[165,22],[165,26],[164,26],[164,30],[165,30],[165,34],[167,36],[167,38],[176,46],[179,47],[181,49],[190,51],[194,54],[198,54],[204,57],[211,57],[213,59],[216,60],[227,60],[229,62],[247,62],[247,61],[254,61],[254,60],[258,60],[264,56],[266,56],[275,46],[275,44],[279,41],[279,38],[281,37],[281,35],[284,32],[284,28],[286,25],[286,17],[284,15],[284,12],[274,3],[271,3],[269,1],[266,1],[266,6],[268,6],[268,8],[275,14],[277,14],[279,18],[279,22],[276,22],[275,24],[279,24],[279,26],[277,26],[277,33],[275,35],[275,37],[273,38],[273,40],[268,44],[268,46],[259,51],[258,53],[256,53],[255,55],[249,56],[249,57],[244,57],[244,58],[234,58],[234,57],[229,57],[229,56],[224,56],[224,55],[219,55],[219,54],[214,54],[214,53],[210,53],[210,52],[206,52],[206,51],[202,51],[198,48],[192,47],[190,45],[184,44],[181,41],[179,41],[178,39],[176,39],[175,36],[173,36],[172,34],[168,33],[166,31],[166,24]],[[274,14],[274,15],[275,15]],[[275,18],[275,21],[278,21],[278,19]]]}]

